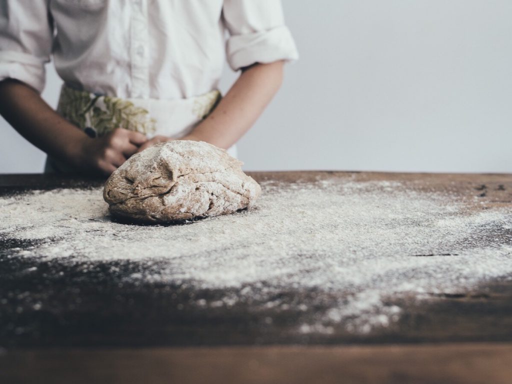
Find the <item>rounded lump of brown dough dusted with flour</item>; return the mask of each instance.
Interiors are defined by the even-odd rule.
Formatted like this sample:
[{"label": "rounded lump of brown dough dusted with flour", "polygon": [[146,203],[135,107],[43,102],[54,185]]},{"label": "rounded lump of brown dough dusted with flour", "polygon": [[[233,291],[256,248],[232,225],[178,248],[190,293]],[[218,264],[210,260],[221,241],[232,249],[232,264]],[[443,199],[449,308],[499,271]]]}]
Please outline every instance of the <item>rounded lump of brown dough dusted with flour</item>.
[{"label": "rounded lump of brown dough dusted with flour", "polygon": [[261,193],[241,166],[226,151],[203,141],[160,143],[115,170],[103,198],[113,216],[142,222],[232,214]]}]

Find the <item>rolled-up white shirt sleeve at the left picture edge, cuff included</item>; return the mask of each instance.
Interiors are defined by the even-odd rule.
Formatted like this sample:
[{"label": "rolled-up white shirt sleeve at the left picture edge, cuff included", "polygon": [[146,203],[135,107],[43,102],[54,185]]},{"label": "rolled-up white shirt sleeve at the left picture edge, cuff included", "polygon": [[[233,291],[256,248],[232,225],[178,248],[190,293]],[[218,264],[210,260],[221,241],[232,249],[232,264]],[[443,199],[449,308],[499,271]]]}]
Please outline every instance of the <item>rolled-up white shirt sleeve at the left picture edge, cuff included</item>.
[{"label": "rolled-up white shirt sleeve at the left picture edge, cuff included", "polygon": [[0,81],[23,81],[39,93],[45,87],[53,23],[48,0],[0,2]]}]

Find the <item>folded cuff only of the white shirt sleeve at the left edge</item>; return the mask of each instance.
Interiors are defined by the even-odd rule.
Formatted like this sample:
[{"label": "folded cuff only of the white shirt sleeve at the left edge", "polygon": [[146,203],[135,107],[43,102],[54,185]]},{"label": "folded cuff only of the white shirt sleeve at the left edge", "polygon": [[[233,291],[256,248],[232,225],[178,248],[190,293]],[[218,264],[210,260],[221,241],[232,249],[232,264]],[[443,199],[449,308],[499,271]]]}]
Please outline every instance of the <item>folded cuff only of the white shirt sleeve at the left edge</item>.
[{"label": "folded cuff only of the white shirt sleeve at the left edge", "polygon": [[41,93],[45,88],[45,62],[49,59],[38,58],[22,52],[0,52],[0,81],[15,79]]}]

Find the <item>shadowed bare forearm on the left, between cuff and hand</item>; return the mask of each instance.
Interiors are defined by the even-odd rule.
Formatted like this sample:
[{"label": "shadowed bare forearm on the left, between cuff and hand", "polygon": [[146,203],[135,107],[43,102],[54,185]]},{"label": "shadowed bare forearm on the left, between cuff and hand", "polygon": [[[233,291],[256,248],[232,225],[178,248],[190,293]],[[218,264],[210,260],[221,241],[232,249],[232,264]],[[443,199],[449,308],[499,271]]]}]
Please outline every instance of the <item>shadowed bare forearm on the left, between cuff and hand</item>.
[{"label": "shadowed bare forearm on the left, between cuff and hand", "polygon": [[77,146],[88,138],[19,81],[0,81],[0,114],[20,135],[55,158],[73,158]]}]

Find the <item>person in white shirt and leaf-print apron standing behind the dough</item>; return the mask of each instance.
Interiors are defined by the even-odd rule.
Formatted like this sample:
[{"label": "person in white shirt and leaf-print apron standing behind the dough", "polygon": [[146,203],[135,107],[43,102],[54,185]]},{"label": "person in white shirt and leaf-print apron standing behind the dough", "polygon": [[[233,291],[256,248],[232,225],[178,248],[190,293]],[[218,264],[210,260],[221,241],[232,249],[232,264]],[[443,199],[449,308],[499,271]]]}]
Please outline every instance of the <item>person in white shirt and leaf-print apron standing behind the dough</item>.
[{"label": "person in white shirt and leaf-print apron standing behind the dough", "polygon": [[[224,52],[241,75],[221,98]],[[40,97],[51,55],[56,112]],[[279,0],[3,0],[0,113],[47,172],[109,175],[176,138],[236,155],[297,57]]]}]

